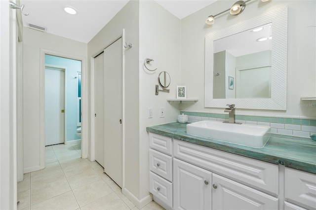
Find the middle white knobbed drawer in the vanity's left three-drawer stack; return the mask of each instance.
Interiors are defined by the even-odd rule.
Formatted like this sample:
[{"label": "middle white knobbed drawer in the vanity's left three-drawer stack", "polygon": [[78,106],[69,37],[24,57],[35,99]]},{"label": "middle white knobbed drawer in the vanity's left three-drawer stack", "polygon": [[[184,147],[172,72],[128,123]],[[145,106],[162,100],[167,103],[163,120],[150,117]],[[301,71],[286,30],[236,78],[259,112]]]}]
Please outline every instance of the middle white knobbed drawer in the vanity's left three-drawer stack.
[{"label": "middle white knobbed drawer in the vanity's left three-drawer stack", "polygon": [[172,157],[153,149],[149,149],[149,169],[172,181]]}]

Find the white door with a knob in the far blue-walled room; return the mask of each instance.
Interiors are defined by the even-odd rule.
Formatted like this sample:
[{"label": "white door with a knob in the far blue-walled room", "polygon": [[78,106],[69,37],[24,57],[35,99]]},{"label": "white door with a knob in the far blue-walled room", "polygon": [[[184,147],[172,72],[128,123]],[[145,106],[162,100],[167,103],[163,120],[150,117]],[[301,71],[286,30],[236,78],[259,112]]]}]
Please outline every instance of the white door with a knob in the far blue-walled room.
[{"label": "white door with a knob in the far blue-walled room", "polygon": [[45,69],[45,146],[64,143],[64,70]]}]

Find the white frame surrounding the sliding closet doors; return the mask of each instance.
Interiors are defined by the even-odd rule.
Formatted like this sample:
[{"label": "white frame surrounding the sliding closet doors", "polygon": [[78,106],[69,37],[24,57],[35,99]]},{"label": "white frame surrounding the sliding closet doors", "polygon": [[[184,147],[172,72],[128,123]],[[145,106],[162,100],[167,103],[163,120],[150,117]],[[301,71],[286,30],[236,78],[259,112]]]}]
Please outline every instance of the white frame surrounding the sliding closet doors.
[{"label": "white frame surrounding the sliding closet doors", "polygon": [[[100,53],[102,53],[104,51],[105,48],[107,48],[108,46],[110,46],[112,43],[114,43],[116,40],[118,40],[119,38],[121,38],[121,42],[122,42],[122,55],[121,55],[121,71],[122,71],[122,75],[121,75],[121,81],[122,81],[122,189],[125,186],[125,150],[124,150],[124,142],[125,142],[125,81],[124,81],[124,73],[125,73],[125,68],[124,68],[124,43],[125,43],[125,30],[123,29],[122,34],[118,35],[113,41],[109,42],[109,44],[107,44],[106,46],[104,46],[101,50],[99,50],[98,52],[96,52],[95,54],[93,54],[90,58],[91,61],[91,69],[90,69],[90,107],[91,107],[91,112],[90,112],[90,116],[91,116],[91,120],[90,120],[90,156],[88,157],[90,161],[94,161],[95,160],[95,135],[94,135],[94,129],[95,129],[95,123],[94,123],[94,114],[95,114],[95,110],[94,110],[94,58],[99,55]],[[128,48],[127,48],[128,49]]]}]

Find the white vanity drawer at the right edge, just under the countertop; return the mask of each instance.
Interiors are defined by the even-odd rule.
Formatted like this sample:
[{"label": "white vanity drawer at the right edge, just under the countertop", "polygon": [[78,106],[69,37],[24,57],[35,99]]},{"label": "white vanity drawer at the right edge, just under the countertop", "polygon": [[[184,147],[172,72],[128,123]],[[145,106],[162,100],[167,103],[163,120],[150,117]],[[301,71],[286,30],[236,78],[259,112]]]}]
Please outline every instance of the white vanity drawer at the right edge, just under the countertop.
[{"label": "white vanity drawer at the right edge, just under the countertop", "polygon": [[285,200],[315,210],[316,175],[285,168]]}]

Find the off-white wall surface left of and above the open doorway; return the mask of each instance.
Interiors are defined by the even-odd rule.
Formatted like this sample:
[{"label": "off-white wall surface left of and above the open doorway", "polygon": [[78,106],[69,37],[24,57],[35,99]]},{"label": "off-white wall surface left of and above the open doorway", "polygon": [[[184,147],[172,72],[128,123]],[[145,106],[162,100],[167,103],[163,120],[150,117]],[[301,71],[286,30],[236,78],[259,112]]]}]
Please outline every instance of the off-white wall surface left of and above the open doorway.
[{"label": "off-white wall surface left of and above the open doorway", "polygon": [[24,28],[23,161],[24,173],[40,169],[40,49],[86,58],[87,44]]}]

